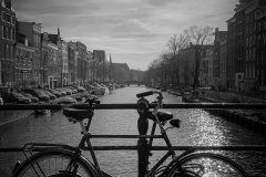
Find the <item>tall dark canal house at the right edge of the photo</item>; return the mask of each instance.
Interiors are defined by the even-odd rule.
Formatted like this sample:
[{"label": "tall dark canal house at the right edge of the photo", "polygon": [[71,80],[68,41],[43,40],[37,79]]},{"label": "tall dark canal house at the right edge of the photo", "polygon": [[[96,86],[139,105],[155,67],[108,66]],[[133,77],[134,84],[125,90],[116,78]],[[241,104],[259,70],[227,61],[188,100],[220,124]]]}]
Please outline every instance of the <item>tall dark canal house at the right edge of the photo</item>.
[{"label": "tall dark canal house at the right edge of the photo", "polygon": [[[235,14],[227,20],[227,85],[234,90],[250,91],[257,85],[263,88],[263,67],[258,61],[263,59],[263,21],[262,9],[266,7],[265,0],[239,0]],[[260,24],[259,24],[260,23]],[[258,31],[258,25],[260,25]],[[259,42],[258,42],[259,41]],[[259,60],[258,60],[259,59]],[[262,65],[263,66],[263,65]],[[264,70],[265,77],[265,70]]]}]

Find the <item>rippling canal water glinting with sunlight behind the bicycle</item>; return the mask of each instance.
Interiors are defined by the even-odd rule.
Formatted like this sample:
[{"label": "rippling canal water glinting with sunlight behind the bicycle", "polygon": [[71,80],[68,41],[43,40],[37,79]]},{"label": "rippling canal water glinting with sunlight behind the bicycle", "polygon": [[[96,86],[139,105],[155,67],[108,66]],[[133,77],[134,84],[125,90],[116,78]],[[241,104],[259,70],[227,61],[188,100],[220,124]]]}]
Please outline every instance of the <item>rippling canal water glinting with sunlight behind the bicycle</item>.
[{"label": "rippling canal water glinting with sunlight behind the bicycle", "polygon": [[[127,86],[111,91],[99,97],[101,103],[136,103],[136,94],[151,88]],[[181,103],[181,97],[163,93],[164,103]],[[149,96],[150,102],[155,95]],[[219,146],[219,145],[265,145],[266,137],[215,117],[202,110],[165,110],[182,121],[181,128],[168,129],[167,134],[175,146]],[[134,110],[96,110],[91,125],[91,133],[99,135],[137,135],[137,113]],[[150,126],[152,123],[150,122]],[[166,126],[170,126],[166,124]],[[158,131],[158,129],[157,129]],[[75,146],[80,140],[79,124],[69,123],[62,111],[45,115],[17,118],[0,125],[0,147],[22,147],[25,143],[60,143]],[[158,132],[157,132],[158,133]],[[137,139],[92,139],[92,144],[101,145],[136,145]],[[155,145],[165,145],[155,139]],[[177,152],[182,153],[182,152]],[[265,154],[262,152],[218,152],[236,160],[245,168],[266,169]],[[151,164],[162,157],[164,152],[154,152]],[[90,159],[89,153],[84,155]],[[137,176],[137,153],[135,150],[96,152],[103,170],[122,177]],[[22,153],[0,153],[1,177],[11,174],[16,160],[23,160]]]}]

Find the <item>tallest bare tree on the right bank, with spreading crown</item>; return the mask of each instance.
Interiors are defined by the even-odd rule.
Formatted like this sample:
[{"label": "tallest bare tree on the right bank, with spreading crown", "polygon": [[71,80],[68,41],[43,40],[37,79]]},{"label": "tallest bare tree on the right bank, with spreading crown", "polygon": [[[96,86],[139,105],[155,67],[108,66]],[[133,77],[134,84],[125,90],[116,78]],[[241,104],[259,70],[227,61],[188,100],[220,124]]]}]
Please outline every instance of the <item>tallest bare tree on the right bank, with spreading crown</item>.
[{"label": "tallest bare tree on the right bank, with spreading crown", "polygon": [[186,37],[191,42],[191,46],[195,50],[195,73],[194,73],[194,83],[193,88],[198,85],[198,76],[200,76],[200,64],[202,62],[203,55],[205,54],[205,50],[207,44],[213,42],[213,28],[206,25],[204,28],[193,25],[184,31]]}]

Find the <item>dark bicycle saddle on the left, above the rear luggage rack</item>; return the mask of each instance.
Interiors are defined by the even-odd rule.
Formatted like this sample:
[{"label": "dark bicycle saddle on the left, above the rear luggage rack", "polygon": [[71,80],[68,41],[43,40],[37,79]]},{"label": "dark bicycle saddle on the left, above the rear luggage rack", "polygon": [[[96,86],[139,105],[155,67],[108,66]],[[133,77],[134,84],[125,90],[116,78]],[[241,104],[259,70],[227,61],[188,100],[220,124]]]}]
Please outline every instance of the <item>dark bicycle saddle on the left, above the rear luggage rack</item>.
[{"label": "dark bicycle saddle on the left, above the rear luggage rack", "polygon": [[85,118],[92,117],[94,112],[92,110],[79,110],[79,108],[64,108],[63,115],[65,117],[71,117],[76,119],[78,122],[83,121]]}]

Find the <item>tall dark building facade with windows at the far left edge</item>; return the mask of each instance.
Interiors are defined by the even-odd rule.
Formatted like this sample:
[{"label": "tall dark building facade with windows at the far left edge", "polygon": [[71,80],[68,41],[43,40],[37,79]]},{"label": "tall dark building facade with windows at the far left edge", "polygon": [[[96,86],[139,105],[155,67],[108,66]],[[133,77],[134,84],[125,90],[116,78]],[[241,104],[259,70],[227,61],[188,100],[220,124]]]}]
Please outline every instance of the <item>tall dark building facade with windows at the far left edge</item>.
[{"label": "tall dark building facade with windows at the far left edge", "polygon": [[0,0],[0,84],[14,85],[16,10],[11,0]]}]

